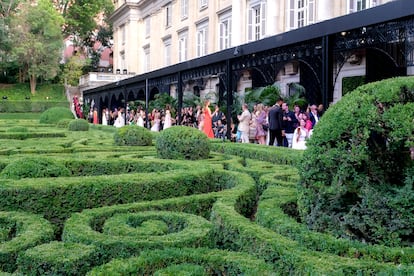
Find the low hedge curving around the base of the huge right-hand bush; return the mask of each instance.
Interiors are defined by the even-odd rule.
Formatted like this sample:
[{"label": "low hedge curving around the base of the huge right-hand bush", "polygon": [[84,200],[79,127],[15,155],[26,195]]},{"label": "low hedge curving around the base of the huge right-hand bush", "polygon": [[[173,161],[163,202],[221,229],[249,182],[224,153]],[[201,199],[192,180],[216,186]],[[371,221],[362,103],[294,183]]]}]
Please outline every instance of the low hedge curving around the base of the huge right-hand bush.
[{"label": "low hedge curving around the base of the huge right-hand bush", "polygon": [[[273,177],[272,177],[273,176]],[[337,239],[326,233],[309,230],[301,224],[296,214],[288,214],[286,206],[293,206],[297,200],[296,181],[286,182],[282,177],[269,174],[261,178],[267,184],[257,206],[258,224],[298,241],[308,250],[337,254],[355,259],[373,259],[379,262],[410,264],[414,259],[414,247],[386,247],[368,245],[359,241]],[[292,209],[293,211],[296,211]]]}]

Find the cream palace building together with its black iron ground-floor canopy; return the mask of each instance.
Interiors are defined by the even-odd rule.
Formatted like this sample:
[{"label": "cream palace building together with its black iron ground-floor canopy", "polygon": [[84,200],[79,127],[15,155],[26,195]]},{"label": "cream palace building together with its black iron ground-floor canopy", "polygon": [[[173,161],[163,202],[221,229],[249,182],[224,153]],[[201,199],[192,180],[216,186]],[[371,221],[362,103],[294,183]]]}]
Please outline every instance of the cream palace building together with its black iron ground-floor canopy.
[{"label": "cream palace building together with its black iron ground-floor canopy", "polygon": [[[311,103],[340,100],[351,78],[414,74],[409,0],[114,0],[113,72],[84,91],[98,107],[168,93],[234,93],[278,83]],[[351,81],[352,82],[352,81]],[[293,89],[294,90],[294,89]],[[231,93],[227,93],[231,91]]]}]

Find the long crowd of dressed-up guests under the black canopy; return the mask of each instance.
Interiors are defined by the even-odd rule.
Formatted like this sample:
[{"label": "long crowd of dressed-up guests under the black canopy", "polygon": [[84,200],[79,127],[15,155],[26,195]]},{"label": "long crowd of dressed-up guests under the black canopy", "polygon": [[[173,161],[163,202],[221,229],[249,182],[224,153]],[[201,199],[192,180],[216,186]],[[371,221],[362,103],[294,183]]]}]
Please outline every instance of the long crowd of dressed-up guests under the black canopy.
[{"label": "long crowd of dressed-up guests under the black canopy", "polygon": [[[151,131],[162,131],[173,125],[185,125],[198,128],[209,138],[227,139],[226,116],[218,105],[211,110],[210,104],[210,101],[206,100],[203,106],[184,107],[181,109],[180,116],[169,105],[164,109],[154,108],[148,114],[142,107],[136,110],[129,108],[125,110],[123,107],[110,110],[104,107],[100,122],[115,127],[126,124],[138,125]],[[306,110],[302,110],[299,105],[290,109],[282,98],[279,98],[273,106],[256,104],[251,111],[247,104],[243,104],[237,121],[230,122],[231,140],[306,149],[306,140],[312,135],[313,128],[323,112],[322,104],[309,105]],[[99,123],[96,108],[91,108],[88,120],[93,124]]]}]

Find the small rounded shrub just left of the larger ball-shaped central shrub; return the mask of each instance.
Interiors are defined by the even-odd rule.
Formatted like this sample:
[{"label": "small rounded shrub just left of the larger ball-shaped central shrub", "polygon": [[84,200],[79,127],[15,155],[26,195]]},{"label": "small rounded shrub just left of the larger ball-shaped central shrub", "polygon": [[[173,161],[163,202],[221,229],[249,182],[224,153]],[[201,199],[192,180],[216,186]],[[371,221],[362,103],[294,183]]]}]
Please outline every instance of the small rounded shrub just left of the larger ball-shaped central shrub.
[{"label": "small rounded shrub just left of the larger ball-shaped central shrub", "polygon": [[150,146],[152,145],[151,132],[134,125],[118,128],[114,135],[115,145],[118,146]]}]

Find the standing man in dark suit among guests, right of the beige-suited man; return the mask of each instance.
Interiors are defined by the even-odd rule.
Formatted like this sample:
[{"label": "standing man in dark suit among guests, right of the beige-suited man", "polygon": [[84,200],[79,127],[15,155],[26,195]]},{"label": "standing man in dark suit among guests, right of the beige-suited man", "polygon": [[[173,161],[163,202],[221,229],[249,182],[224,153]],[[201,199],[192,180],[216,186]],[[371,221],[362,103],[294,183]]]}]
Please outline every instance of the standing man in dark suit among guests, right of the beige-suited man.
[{"label": "standing man in dark suit among guests, right of the beige-suited man", "polygon": [[283,146],[283,99],[279,98],[276,104],[269,109],[269,146],[273,146],[275,139],[279,147]]}]

